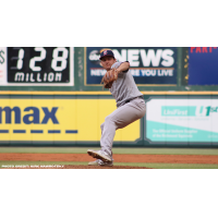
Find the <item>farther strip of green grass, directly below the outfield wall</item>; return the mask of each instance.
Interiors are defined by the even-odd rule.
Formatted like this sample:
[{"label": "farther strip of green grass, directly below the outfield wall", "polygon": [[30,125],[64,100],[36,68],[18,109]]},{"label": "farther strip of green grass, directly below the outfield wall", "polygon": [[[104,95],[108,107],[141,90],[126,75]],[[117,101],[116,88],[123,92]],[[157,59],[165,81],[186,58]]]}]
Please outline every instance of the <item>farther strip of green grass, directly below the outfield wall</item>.
[{"label": "farther strip of green grass, directly below the outfield wall", "polygon": [[[0,147],[0,153],[86,154],[86,147]],[[218,155],[218,148],[113,148],[113,154]]]}]

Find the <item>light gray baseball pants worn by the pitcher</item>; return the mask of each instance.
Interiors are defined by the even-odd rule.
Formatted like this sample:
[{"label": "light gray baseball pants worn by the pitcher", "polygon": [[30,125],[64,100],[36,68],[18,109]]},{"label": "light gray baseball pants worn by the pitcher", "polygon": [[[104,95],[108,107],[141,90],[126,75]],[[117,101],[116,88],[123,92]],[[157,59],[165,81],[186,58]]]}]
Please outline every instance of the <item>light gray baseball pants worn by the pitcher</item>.
[{"label": "light gray baseball pants worn by the pitcher", "polygon": [[135,98],[130,102],[120,106],[111,114],[106,117],[105,122],[100,125],[101,149],[112,157],[112,143],[116,135],[116,130],[123,129],[132,122],[143,118],[145,112],[145,100],[142,98]]}]

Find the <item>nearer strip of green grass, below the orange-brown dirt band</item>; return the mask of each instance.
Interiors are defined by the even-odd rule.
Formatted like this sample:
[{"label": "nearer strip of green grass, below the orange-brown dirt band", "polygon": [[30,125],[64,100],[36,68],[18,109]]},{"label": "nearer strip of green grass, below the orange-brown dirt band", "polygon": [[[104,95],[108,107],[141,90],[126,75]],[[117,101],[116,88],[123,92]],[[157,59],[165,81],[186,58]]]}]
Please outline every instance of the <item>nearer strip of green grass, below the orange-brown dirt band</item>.
[{"label": "nearer strip of green grass, below the orange-brown dirt band", "polygon": [[[0,161],[0,168],[5,166],[45,166],[45,165],[83,165],[88,162],[71,161]],[[4,166],[4,167],[3,167]],[[201,164],[142,164],[142,162],[114,162],[114,166],[147,167],[154,169],[218,169],[218,165]]]}]

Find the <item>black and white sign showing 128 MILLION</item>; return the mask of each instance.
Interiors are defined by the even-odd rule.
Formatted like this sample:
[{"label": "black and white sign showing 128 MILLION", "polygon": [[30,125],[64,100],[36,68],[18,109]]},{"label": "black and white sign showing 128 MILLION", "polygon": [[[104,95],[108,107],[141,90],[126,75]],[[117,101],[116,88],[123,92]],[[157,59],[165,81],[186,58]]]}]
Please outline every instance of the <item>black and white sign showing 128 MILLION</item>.
[{"label": "black and white sign showing 128 MILLION", "polygon": [[0,85],[74,85],[72,47],[0,47]]}]

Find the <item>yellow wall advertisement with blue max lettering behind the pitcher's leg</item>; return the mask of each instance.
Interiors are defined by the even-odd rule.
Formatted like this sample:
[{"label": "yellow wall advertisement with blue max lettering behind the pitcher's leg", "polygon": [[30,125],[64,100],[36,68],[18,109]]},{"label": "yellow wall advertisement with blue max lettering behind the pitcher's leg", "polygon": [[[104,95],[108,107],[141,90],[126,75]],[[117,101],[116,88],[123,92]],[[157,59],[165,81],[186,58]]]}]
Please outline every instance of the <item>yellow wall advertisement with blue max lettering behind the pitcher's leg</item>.
[{"label": "yellow wall advertisement with blue max lettering behind the pitcher's leg", "polygon": [[[88,106],[88,110],[87,110]],[[98,142],[100,124],[116,109],[113,99],[61,97],[0,99],[0,142]],[[135,142],[141,122],[118,130],[114,142]]]}]

